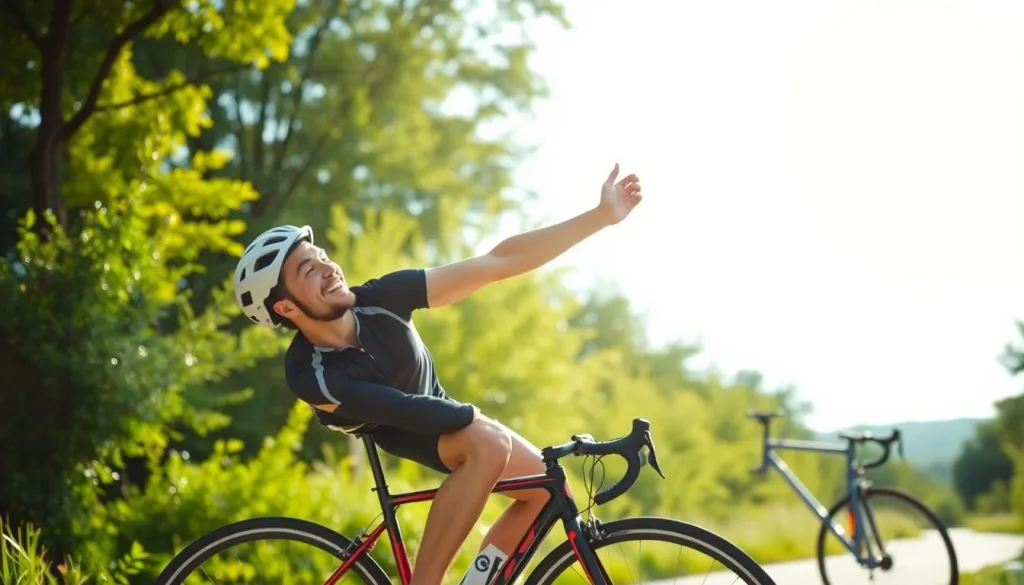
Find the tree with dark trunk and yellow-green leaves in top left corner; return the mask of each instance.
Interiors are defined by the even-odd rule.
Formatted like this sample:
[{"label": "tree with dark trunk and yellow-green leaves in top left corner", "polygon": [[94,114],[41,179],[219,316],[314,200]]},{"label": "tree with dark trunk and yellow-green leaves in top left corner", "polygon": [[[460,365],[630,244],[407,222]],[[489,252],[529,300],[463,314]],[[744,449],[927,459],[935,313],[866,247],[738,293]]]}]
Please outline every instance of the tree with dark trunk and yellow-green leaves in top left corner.
[{"label": "tree with dark trunk and yellow-green leaves in top left corner", "polygon": [[[198,81],[172,70],[162,81],[139,78],[121,85],[120,93],[111,92],[108,83],[120,75],[117,69],[130,67],[124,57],[133,42],[142,37],[195,41],[207,58],[229,59],[236,69],[265,67],[286,55],[283,18],[293,1],[5,2],[4,71],[18,74],[17,85],[5,87],[3,103],[31,110],[39,119],[26,161],[36,216],[52,214],[56,225],[68,226],[73,203],[63,194],[67,150],[93,116],[164,98]],[[49,222],[34,225],[45,233]]]}]

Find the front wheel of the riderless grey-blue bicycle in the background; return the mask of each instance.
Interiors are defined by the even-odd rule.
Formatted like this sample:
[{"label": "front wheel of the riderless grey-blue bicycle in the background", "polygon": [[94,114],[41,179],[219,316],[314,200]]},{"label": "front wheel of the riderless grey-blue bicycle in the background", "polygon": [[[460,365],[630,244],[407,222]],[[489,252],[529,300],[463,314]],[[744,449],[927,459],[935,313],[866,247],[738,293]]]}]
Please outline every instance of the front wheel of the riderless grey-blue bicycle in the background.
[{"label": "front wheel of the riderless grey-blue bicycle in the background", "polygon": [[[942,520],[920,500],[892,488],[865,488],[860,496],[863,535],[860,554],[880,562],[869,569],[833,534],[830,526],[850,543],[856,527],[850,497],[836,502],[818,532],[818,571],[823,585],[928,583],[957,585],[956,552]],[[827,538],[833,535],[833,538]]]}]

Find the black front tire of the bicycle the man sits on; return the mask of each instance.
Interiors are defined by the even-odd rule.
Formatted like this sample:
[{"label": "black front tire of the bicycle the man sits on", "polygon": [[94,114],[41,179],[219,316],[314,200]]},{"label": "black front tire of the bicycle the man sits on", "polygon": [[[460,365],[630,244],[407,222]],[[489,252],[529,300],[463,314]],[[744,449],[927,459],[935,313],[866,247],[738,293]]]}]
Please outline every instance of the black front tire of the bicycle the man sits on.
[{"label": "black front tire of the bicycle the man sits on", "polygon": [[[610,520],[601,525],[601,538],[594,541],[587,534],[587,542],[595,551],[609,544],[635,540],[662,540],[680,544],[708,554],[732,570],[745,585],[775,585],[765,570],[738,546],[698,526],[657,516],[636,516]],[[549,585],[562,571],[577,560],[568,542],[563,542],[549,552],[530,572],[524,585]]]}]

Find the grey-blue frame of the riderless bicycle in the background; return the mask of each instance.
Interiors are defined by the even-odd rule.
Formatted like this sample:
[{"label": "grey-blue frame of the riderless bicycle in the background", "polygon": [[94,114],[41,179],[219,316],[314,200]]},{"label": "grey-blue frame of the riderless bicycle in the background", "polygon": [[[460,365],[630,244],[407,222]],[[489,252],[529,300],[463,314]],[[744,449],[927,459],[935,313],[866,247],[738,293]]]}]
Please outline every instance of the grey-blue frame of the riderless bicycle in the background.
[{"label": "grey-blue frame of the riderless bicycle in the background", "polygon": [[[848,512],[848,516],[849,521],[853,525],[851,527],[851,530],[853,530],[853,540],[851,541],[847,538],[845,534],[846,531],[843,527],[837,527],[835,523],[829,523],[828,529],[834,535],[836,535],[836,538],[843,543],[843,546],[845,546],[846,549],[853,554],[858,563],[869,569],[878,568],[881,565],[881,561],[873,554],[870,539],[866,538],[864,531],[865,516],[866,523],[870,527],[871,534],[878,534],[878,528],[874,525],[874,516],[871,513],[870,508],[861,505],[860,487],[862,471],[856,460],[856,445],[852,441],[847,445],[842,445],[821,441],[771,438],[768,436],[766,427],[763,440],[763,457],[761,465],[756,467],[755,471],[760,473],[764,473],[770,469],[777,471],[782,479],[790,485],[790,488],[797,492],[797,495],[799,495],[807,507],[810,508],[811,512],[818,516],[818,519],[824,523],[828,517],[828,509],[814,497],[814,494],[812,494],[807,486],[800,480],[800,477],[793,472],[785,461],[783,461],[782,458],[775,453],[776,450],[806,451],[811,453],[845,456],[846,486],[850,495],[851,510]],[[861,554],[861,550],[864,550],[863,554]]]}]

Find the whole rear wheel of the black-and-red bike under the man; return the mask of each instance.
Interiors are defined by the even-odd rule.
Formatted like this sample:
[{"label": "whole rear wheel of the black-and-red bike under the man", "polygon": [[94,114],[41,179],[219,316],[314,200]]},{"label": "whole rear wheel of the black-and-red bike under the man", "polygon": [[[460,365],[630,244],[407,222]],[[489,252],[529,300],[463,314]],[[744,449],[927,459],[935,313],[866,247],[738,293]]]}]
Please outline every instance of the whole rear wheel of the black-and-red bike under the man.
[{"label": "whole rear wheel of the black-and-red bike under the man", "polygon": [[[325,583],[350,550],[351,540],[317,524],[288,517],[249,518],[218,528],[186,546],[156,583]],[[346,582],[391,583],[368,554],[337,581]]]}]

